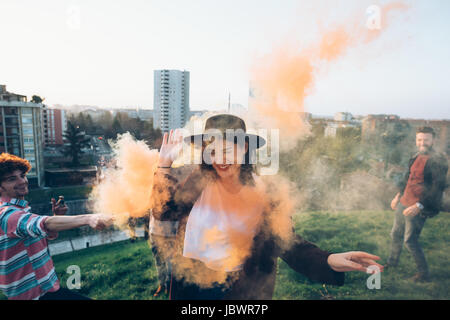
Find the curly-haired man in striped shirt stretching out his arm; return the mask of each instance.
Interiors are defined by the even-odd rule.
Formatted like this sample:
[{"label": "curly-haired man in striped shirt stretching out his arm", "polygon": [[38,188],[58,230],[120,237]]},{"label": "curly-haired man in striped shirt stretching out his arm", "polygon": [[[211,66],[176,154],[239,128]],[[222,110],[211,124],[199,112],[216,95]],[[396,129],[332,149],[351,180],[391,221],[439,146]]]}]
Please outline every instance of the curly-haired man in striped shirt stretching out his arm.
[{"label": "curly-haired man in striped shirt stretching out his arm", "polygon": [[54,216],[30,212],[27,201],[29,162],[17,156],[0,155],[0,289],[8,299],[86,299],[59,286],[47,238],[57,232],[89,225],[102,229],[111,219],[99,215],[61,216],[67,206],[56,206]]}]

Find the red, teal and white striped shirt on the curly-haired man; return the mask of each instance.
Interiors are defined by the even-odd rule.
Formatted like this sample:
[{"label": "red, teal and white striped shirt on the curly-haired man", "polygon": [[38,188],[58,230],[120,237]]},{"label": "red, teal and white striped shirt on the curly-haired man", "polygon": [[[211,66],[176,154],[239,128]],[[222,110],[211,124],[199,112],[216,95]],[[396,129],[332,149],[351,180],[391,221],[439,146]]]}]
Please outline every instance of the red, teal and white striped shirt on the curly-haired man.
[{"label": "red, teal and white striped shirt on the curly-haired man", "polygon": [[59,290],[48,251],[48,216],[30,213],[28,202],[2,197],[0,202],[0,289],[15,300],[39,299]]}]

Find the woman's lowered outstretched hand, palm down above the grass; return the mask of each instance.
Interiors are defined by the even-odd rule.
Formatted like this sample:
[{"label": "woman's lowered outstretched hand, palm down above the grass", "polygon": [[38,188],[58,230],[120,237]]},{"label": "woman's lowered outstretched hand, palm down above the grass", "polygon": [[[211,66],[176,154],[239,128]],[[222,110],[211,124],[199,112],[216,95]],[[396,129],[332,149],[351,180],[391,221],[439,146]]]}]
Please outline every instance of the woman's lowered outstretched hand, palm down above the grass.
[{"label": "woman's lowered outstretched hand, palm down above the grass", "polygon": [[377,266],[380,271],[384,267],[375,262],[380,257],[362,251],[350,251],[344,253],[335,253],[328,256],[328,265],[337,272],[362,271],[367,272],[369,266]]}]

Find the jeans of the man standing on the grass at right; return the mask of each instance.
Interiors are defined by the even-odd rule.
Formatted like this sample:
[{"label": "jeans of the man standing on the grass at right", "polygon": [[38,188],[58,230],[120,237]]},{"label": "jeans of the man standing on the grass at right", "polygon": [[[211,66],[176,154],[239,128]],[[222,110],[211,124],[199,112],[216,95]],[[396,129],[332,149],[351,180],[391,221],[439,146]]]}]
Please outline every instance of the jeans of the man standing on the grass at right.
[{"label": "jeans of the man standing on the grass at right", "polygon": [[418,272],[428,275],[428,265],[423,254],[422,247],[419,244],[419,236],[425,224],[426,218],[416,215],[415,217],[405,217],[403,215],[405,207],[399,203],[395,211],[394,226],[392,227],[392,247],[388,263],[397,265],[402,252],[403,243],[411,252],[416,262]]}]

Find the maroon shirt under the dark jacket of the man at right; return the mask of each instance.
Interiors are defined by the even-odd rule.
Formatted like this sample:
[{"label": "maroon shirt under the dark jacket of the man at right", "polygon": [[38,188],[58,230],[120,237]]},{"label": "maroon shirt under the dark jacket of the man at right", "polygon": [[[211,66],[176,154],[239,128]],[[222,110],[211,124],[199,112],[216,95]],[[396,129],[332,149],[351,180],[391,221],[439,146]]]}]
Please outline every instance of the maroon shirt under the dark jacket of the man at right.
[{"label": "maroon shirt under the dark jacket of the man at right", "polygon": [[428,161],[429,156],[420,154],[411,166],[409,172],[408,183],[406,184],[405,192],[400,202],[405,207],[410,207],[419,202],[423,193],[424,185],[424,168]]}]

